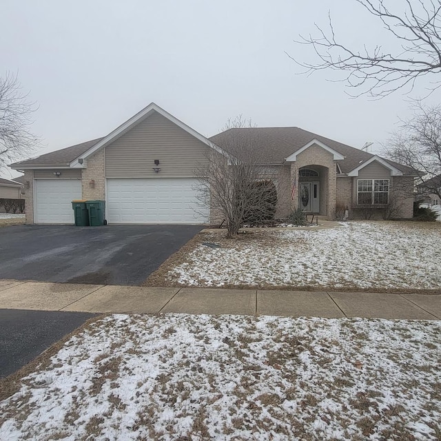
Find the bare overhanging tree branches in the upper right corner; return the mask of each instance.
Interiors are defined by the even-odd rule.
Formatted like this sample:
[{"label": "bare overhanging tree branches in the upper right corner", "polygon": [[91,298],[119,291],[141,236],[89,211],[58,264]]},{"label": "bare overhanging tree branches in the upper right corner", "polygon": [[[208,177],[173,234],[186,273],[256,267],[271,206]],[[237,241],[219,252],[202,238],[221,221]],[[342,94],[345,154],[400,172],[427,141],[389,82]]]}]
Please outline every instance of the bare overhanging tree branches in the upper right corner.
[{"label": "bare overhanging tree branches in the upper right corner", "polygon": [[[376,17],[382,27],[399,44],[396,53],[384,51],[382,45],[368,49],[351,48],[336,38],[329,14],[329,30],[325,32],[317,24],[318,36],[300,35],[300,41],[311,45],[318,56],[317,63],[305,63],[294,59],[306,68],[305,73],[316,70],[338,70],[347,72],[345,81],[349,88],[362,91],[351,94],[368,94],[376,98],[387,96],[409,86],[411,92],[415,81],[431,74],[434,78],[432,90],[439,88],[441,72],[441,2],[438,0],[356,0],[369,14]],[[387,6],[393,5],[393,9]]]}]

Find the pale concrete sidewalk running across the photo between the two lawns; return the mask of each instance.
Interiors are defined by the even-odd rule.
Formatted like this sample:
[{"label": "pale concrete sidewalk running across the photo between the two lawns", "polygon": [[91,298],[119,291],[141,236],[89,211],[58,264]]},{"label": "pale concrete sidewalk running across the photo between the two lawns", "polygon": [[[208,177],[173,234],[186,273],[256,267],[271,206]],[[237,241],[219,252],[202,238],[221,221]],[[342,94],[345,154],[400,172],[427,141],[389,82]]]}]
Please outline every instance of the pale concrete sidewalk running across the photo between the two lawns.
[{"label": "pale concrete sidewalk running across the photo between the two lawns", "polygon": [[0,309],[441,320],[441,296],[0,280]]}]

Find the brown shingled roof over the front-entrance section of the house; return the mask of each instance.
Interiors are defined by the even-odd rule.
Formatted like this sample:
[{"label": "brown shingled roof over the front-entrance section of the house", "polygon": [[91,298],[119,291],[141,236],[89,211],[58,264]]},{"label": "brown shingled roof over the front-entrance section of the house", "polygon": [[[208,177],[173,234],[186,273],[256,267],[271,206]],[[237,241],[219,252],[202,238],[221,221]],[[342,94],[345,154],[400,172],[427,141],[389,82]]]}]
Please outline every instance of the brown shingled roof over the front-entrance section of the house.
[{"label": "brown shingled roof over the front-entrance section of the house", "polygon": [[[262,160],[267,164],[283,164],[285,159],[296,153],[314,139],[335,150],[345,159],[338,161],[341,172],[346,174],[371,159],[373,155],[355,147],[339,143],[325,136],[318,135],[300,127],[246,127],[229,129],[210,138],[223,150],[228,151],[229,134],[234,132],[235,139],[240,139],[243,145],[250,145],[258,151]],[[382,158],[382,161],[396,167],[403,174],[416,174],[415,170],[406,165],[398,164]]]}]

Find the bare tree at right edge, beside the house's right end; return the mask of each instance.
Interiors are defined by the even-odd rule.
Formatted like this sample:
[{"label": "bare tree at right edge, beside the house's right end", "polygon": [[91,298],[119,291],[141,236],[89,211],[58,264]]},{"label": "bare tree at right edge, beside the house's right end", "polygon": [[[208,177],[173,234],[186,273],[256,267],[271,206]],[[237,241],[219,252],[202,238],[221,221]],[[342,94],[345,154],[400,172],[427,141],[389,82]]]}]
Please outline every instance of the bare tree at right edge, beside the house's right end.
[{"label": "bare tree at right edge, beside the house's right end", "polygon": [[423,192],[441,198],[441,181],[437,179],[441,175],[441,105],[418,101],[413,103],[413,111],[384,145],[384,153],[418,171]]}]

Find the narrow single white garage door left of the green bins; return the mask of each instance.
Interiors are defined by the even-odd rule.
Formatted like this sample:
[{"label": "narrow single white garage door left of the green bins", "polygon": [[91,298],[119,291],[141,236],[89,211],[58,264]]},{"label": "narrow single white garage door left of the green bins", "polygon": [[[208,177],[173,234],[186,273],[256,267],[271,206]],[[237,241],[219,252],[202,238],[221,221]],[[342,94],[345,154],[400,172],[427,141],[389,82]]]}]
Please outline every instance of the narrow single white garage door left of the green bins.
[{"label": "narrow single white garage door left of the green bins", "polygon": [[81,181],[36,179],[34,189],[36,223],[74,223],[72,199],[81,199]]}]

